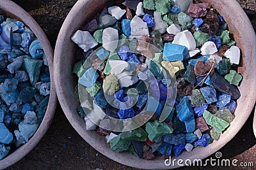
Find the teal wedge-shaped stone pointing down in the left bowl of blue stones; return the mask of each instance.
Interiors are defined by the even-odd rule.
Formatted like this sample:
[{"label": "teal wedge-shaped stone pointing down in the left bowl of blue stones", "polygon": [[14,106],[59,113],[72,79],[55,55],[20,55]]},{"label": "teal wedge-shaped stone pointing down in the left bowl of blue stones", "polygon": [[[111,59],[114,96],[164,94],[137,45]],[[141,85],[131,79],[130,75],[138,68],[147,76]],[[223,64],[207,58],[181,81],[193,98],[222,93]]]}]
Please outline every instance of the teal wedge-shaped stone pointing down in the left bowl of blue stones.
[{"label": "teal wedge-shaped stone pointing down in the left bowl of blue stones", "polygon": [[40,75],[40,69],[43,64],[43,60],[24,58],[23,64],[28,73],[30,83],[35,85]]}]

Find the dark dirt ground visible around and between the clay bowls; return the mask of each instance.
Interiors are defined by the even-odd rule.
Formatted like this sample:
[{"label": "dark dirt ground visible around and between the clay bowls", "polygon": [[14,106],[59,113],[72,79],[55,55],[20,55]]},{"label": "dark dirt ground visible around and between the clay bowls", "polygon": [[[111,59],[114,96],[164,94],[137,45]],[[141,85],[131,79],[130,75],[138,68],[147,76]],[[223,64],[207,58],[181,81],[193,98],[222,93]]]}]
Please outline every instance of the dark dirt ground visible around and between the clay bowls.
[{"label": "dark dirt ground visible around and between the clay bowls", "polygon": [[[52,46],[56,43],[61,24],[76,0],[14,0],[35,18],[44,29]],[[252,10],[252,24],[256,29],[256,1],[240,0],[244,9]],[[253,12],[254,11],[254,12]],[[225,159],[253,162],[256,169],[256,139],[252,130],[253,115],[232,141],[220,152]],[[214,157],[214,155],[212,155]],[[8,169],[133,169],[101,155],[88,145],[72,128],[58,104],[54,120],[47,134],[24,159]],[[195,169],[183,167],[182,169]],[[197,169],[235,169],[234,167],[198,167]],[[236,169],[242,169],[237,167]],[[244,168],[244,169],[253,169]]]}]

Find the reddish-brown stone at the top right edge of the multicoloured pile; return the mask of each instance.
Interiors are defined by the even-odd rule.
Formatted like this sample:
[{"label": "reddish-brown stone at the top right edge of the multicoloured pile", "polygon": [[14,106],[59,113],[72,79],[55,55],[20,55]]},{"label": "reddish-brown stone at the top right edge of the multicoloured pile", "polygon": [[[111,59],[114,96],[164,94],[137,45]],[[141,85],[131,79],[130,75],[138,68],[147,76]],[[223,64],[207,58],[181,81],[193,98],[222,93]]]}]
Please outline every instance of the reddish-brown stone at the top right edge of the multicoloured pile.
[{"label": "reddish-brown stone at the top right edge of the multicoloured pile", "polygon": [[189,15],[189,17],[198,18],[198,17],[204,17],[207,13],[207,8],[209,6],[209,3],[200,3],[200,4],[189,4],[188,10],[186,11],[186,14]]}]

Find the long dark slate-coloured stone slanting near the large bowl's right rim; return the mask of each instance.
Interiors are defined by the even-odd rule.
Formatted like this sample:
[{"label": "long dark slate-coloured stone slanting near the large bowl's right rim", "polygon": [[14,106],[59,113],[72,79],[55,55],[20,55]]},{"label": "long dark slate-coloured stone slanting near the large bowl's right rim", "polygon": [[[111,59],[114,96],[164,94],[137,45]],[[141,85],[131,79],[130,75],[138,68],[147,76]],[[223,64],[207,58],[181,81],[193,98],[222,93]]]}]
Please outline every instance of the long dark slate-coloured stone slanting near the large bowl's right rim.
[{"label": "long dark slate-coloured stone slanting near the large bowl's right rim", "polygon": [[241,94],[236,86],[231,85],[223,76],[218,74],[216,71],[211,73],[211,83],[214,89],[223,92],[224,94],[229,94],[234,99],[238,99]]}]

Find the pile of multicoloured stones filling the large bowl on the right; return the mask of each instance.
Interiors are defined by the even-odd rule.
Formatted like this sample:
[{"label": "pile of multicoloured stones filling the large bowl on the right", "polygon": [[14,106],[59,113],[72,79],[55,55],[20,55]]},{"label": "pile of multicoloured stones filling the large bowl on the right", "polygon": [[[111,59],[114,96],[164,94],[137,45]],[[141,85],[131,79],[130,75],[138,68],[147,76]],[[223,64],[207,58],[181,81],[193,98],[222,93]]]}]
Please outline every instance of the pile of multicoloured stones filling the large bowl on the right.
[{"label": "pile of multicoloured stones filling the large bowl on the right", "polygon": [[[72,41],[84,51],[83,57],[77,52],[77,59],[83,60],[74,65],[73,72],[90,94],[77,112],[84,117],[86,129],[105,135],[116,152],[126,150],[147,160],[156,155],[179,156],[182,150],[191,152],[218,140],[234,119],[240,97],[237,86],[242,80],[237,73],[240,50],[223,17],[208,3],[111,2]],[[150,45],[159,52],[148,48]],[[169,87],[171,80],[165,73],[176,76],[176,89]],[[150,83],[152,78],[157,87]],[[154,90],[148,92],[149,87]],[[135,104],[127,103],[131,88],[138,92]],[[75,89],[79,101],[77,89],[79,86]],[[177,98],[173,99],[175,90]],[[106,94],[115,96],[112,104]],[[116,100],[123,104],[115,104]],[[125,120],[140,115],[143,108],[152,111],[151,104],[156,113],[141,127],[126,132],[102,129],[106,123],[102,113]],[[169,116],[161,122],[163,112]],[[92,121],[95,115],[98,119]]]}]

